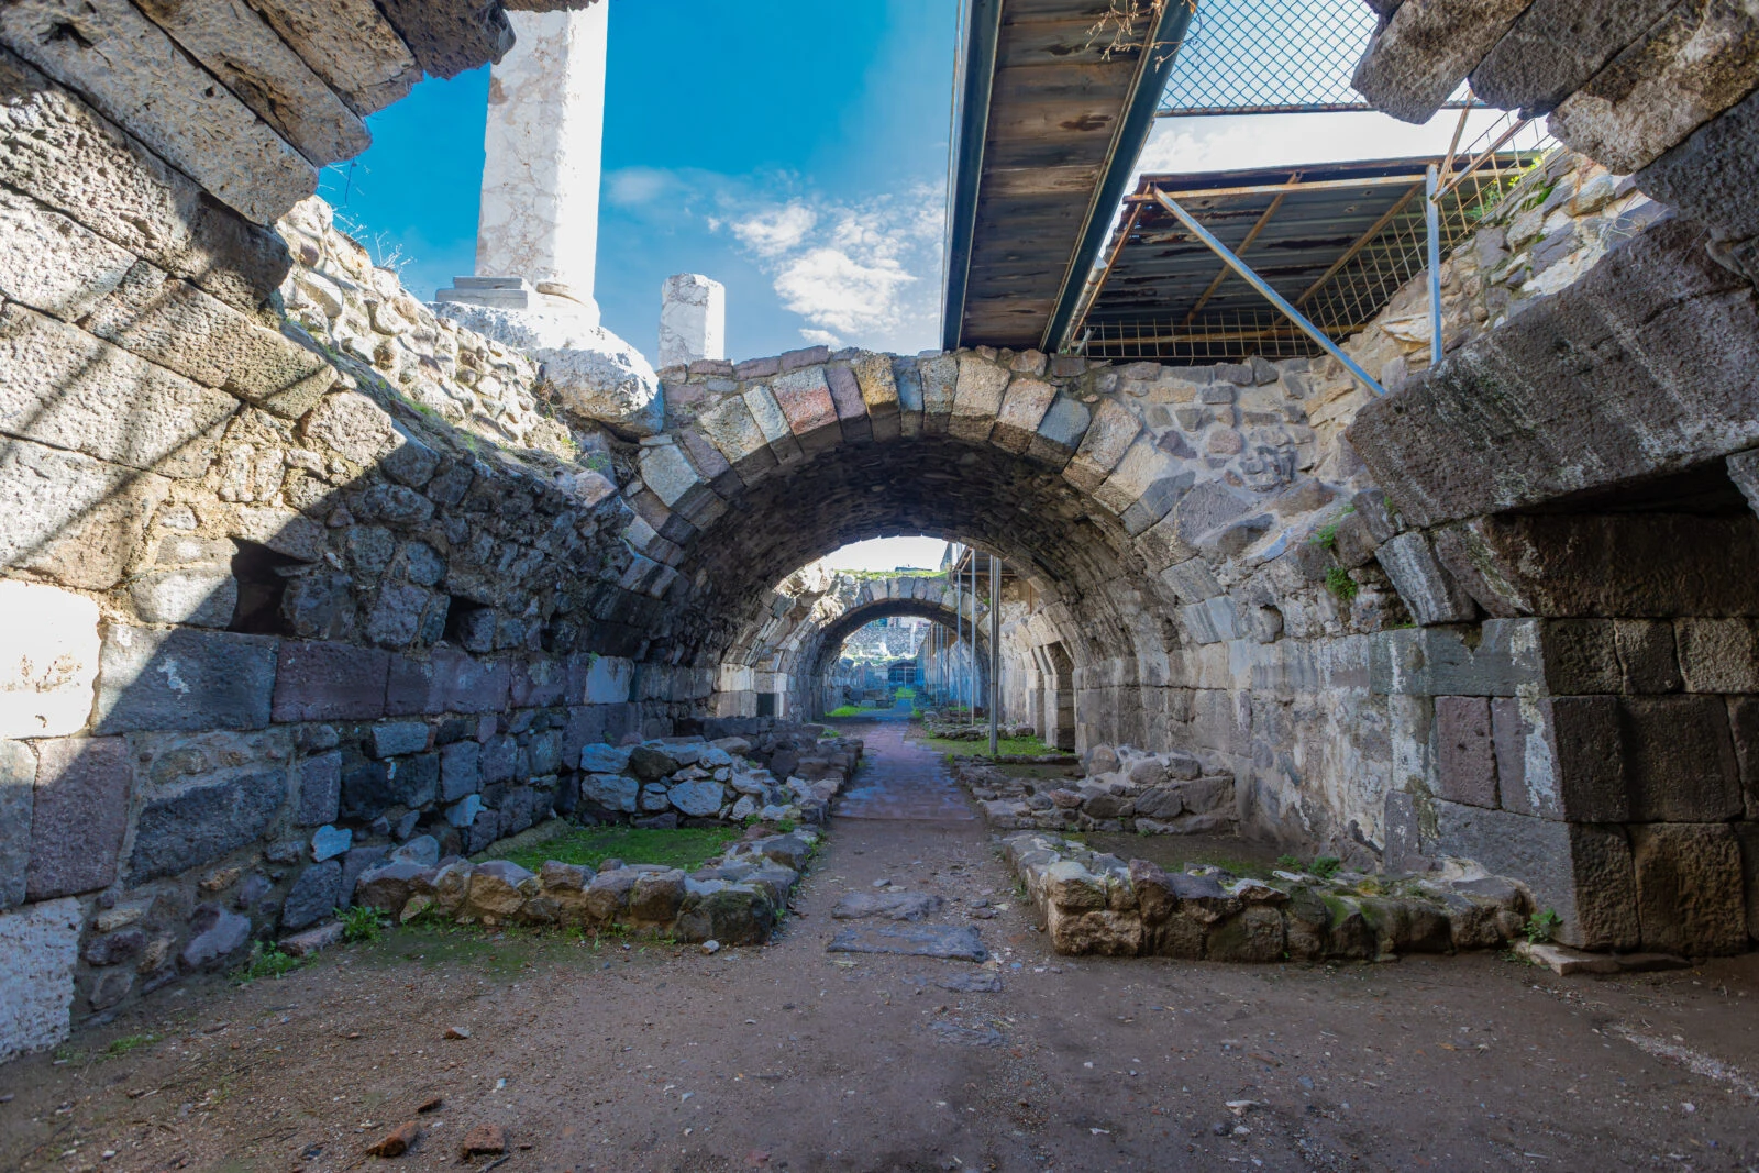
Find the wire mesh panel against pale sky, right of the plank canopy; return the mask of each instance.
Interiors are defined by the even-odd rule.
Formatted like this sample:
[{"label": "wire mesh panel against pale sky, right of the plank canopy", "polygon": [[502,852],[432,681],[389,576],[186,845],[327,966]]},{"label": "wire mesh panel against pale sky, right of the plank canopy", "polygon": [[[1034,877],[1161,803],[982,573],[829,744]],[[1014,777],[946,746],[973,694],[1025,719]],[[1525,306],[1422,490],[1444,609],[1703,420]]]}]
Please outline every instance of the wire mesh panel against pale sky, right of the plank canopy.
[{"label": "wire mesh panel against pale sky, right of the plank canopy", "polygon": [[[1184,2],[1196,14],[1163,118],[1370,109],[1349,84],[1374,35],[1365,0]],[[1465,100],[1462,88],[1449,106]]]}]

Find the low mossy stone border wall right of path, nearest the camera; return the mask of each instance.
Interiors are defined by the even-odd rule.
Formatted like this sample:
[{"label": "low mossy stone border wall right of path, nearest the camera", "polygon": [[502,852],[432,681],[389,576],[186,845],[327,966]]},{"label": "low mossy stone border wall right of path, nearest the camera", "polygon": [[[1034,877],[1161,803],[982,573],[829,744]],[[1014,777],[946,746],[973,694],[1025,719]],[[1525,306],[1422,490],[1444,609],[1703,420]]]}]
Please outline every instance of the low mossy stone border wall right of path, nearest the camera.
[{"label": "low mossy stone border wall right of path, nearest the camera", "polygon": [[1483,872],[1386,881],[1277,872],[1274,883],[1214,867],[1166,872],[1055,835],[1003,841],[1057,953],[1215,962],[1395,960],[1493,950],[1520,936],[1523,888]]}]

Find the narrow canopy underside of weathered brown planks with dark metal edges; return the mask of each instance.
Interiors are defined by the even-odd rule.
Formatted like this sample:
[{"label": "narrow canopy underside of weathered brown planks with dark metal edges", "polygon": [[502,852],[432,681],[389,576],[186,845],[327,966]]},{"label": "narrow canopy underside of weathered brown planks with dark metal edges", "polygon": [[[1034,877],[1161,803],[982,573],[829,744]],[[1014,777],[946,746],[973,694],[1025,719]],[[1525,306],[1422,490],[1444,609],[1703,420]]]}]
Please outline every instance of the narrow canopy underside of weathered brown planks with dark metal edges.
[{"label": "narrow canopy underside of weathered brown planks with dark metal edges", "polygon": [[[1106,26],[1124,12],[1128,26]],[[943,345],[1057,350],[1154,125],[1186,0],[969,0]]]}]

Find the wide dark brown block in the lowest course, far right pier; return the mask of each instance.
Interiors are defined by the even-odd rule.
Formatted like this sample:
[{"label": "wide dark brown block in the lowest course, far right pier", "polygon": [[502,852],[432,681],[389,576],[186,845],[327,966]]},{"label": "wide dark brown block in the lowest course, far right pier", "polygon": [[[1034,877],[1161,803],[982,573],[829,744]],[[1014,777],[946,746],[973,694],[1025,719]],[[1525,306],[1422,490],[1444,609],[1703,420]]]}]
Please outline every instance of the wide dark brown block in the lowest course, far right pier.
[{"label": "wide dark brown block in the lowest course, far right pier", "polygon": [[1727,823],[1631,828],[1643,948],[1690,957],[1747,950],[1741,848]]}]

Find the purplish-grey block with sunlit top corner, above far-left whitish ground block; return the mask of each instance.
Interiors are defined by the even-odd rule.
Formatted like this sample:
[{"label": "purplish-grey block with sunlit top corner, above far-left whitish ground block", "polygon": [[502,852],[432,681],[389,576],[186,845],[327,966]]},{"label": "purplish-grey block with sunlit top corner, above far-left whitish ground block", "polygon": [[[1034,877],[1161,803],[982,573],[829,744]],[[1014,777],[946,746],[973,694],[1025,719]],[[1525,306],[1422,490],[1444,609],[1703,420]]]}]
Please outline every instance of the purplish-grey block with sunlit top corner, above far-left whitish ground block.
[{"label": "purplish-grey block with sunlit top corner, above far-left whitish ground block", "polygon": [[128,747],[120,737],[37,742],[26,899],[95,892],[116,879],[128,781]]}]

